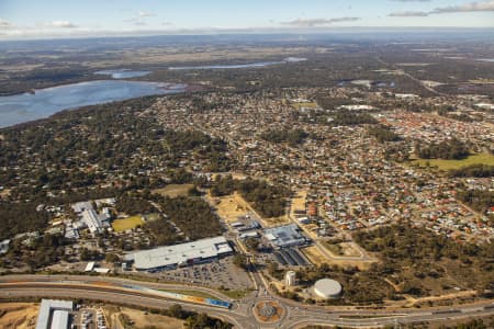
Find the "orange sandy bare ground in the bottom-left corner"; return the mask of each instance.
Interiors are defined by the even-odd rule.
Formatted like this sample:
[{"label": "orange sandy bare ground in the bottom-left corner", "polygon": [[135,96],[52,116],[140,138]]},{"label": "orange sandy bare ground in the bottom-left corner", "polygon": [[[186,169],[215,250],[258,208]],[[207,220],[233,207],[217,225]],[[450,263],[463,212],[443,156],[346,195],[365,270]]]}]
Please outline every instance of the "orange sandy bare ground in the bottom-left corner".
[{"label": "orange sandy bare ground in the bottom-left corner", "polygon": [[0,328],[35,328],[38,309],[35,303],[0,303]]}]

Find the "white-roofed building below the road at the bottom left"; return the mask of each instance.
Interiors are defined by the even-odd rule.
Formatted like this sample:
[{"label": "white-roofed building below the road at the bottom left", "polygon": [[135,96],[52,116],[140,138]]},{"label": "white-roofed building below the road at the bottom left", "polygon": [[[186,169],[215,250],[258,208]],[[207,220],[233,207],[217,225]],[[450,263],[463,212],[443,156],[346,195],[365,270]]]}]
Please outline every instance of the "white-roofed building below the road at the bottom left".
[{"label": "white-roofed building below the road at the bottom left", "polygon": [[69,328],[69,313],[74,309],[70,300],[43,299],[37,315],[36,329]]}]

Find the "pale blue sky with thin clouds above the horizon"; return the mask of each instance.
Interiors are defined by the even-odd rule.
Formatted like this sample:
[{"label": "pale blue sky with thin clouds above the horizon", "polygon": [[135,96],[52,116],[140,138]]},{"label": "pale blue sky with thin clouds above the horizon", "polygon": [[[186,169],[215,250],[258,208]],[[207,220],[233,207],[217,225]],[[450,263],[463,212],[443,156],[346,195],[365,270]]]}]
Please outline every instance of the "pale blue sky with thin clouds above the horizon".
[{"label": "pale blue sky with thin clouds above the horizon", "polygon": [[494,27],[494,0],[0,0],[0,39]]}]

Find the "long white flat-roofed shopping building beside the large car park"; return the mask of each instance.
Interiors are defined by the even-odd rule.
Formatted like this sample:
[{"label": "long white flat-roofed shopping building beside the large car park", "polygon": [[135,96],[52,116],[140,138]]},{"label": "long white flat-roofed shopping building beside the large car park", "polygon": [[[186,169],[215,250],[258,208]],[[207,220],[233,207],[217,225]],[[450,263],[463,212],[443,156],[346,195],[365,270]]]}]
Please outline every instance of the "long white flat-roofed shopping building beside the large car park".
[{"label": "long white flat-roofed shopping building beside the large car park", "polygon": [[133,261],[136,270],[157,271],[207,262],[232,253],[228,241],[216,237],[130,253],[125,260]]}]

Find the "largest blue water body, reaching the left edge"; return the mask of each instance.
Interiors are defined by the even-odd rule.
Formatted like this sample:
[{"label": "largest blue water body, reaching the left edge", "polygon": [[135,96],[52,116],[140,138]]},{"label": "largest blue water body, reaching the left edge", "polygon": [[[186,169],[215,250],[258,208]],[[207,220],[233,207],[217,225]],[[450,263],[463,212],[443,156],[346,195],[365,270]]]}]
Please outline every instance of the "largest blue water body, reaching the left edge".
[{"label": "largest blue water body, reaching the left edge", "polygon": [[0,127],[12,126],[86,105],[186,91],[187,86],[164,82],[98,80],[0,97]]}]

